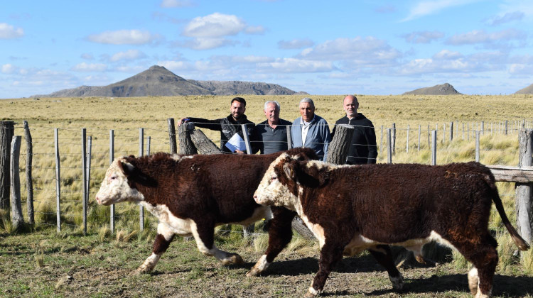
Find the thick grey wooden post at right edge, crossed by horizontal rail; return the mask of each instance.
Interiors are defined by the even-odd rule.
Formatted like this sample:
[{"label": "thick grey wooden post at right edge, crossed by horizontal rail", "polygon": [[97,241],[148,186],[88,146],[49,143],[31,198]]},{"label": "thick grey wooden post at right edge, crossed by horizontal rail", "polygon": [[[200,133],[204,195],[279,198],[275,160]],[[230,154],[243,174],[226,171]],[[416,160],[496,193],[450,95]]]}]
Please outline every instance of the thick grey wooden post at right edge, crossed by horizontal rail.
[{"label": "thick grey wooden post at right edge, crossed by horizontal rail", "polygon": [[[518,134],[519,167],[533,165],[533,129],[521,129]],[[517,230],[527,243],[533,241],[533,183],[516,183]]]}]

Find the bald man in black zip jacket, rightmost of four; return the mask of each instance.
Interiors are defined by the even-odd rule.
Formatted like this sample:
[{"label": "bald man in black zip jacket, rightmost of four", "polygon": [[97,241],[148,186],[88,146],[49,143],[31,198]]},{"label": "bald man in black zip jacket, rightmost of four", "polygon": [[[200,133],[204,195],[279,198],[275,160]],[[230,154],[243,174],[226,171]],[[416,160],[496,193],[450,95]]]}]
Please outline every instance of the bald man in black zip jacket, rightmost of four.
[{"label": "bald man in black zip jacket, rightmost of four", "polygon": [[[344,98],[343,109],[346,116],[335,122],[335,126],[337,126],[337,124],[349,124],[355,128],[346,163],[348,165],[376,163],[376,133],[372,121],[368,120],[365,115],[357,113],[359,102],[357,101],[357,97],[353,95],[348,95]],[[333,128],[331,135],[333,138],[335,135],[335,127]]]}]

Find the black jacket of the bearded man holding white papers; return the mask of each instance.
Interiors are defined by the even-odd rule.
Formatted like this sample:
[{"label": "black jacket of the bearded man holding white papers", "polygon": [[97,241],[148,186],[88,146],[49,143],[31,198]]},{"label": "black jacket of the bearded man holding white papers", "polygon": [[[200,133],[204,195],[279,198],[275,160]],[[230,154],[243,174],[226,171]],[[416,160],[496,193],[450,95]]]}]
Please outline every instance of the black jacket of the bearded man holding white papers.
[{"label": "black jacket of the bearded man holding white papers", "polygon": [[252,136],[255,124],[252,121],[248,121],[246,115],[242,115],[239,121],[235,121],[233,117],[227,116],[226,118],[220,118],[215,120],[208,120],[204,118],[188,117],[191,123],[195,123],[195,127],[208,128],[212,131],[220,131],[220,150],[225,153],[231,153],[231,151],[225,146],[227,140],[232,138],[235,133],[239,133],[239,136],[244,140],[242,135],[241,124],[247,124],[248,136]]}]

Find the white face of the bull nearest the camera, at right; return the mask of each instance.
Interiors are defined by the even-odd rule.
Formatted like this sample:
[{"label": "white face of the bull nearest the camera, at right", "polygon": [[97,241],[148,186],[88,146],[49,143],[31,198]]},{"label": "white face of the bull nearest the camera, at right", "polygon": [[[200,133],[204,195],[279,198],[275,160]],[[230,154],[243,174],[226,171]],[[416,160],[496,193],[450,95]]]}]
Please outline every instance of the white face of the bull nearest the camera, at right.
[{"label": "white face of the bull nearest the camera, at right", "polygon": [[259,187],[257,187],[257,190],[254,192],[254,200],[257,204],[284,206],[287,209],[296,210],[298,197],[294,196],[294,194],[289,191],[289,188],[279,181],[279,177],[274,171],[274,167],[281,162],[285,162],[287,157],[289,157],[289,155],[286,153],[280,155],[279,158],[276,158],[276,160],[270,164],[269,169],[264,173]]}]

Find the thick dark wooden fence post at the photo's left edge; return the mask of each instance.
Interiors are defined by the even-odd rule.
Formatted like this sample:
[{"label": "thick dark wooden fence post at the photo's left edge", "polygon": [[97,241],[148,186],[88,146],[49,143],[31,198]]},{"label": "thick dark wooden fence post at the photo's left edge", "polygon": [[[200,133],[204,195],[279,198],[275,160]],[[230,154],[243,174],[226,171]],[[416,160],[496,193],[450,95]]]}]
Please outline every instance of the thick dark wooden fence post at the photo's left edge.
[{"label": "thick dark wooden fence post at the photo's left edge", "polygon": [[9,213],[9,159],[14,121],[0,121],[0,209]]}]

